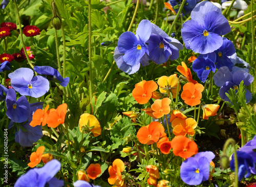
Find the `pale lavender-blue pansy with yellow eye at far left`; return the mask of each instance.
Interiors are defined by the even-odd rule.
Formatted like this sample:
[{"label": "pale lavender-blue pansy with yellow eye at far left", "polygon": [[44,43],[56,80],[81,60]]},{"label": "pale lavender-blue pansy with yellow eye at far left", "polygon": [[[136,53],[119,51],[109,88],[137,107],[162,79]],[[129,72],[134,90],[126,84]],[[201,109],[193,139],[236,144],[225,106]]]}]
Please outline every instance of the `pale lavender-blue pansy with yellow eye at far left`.
[{"label": "pale lavender-blue pansy with yellow eye at far left", "polygon": [[42,76],[33,76],[33,70],[26,67],[18,68],[8,75],[13,89],[20,95],[33,98],[44,96],[50,88],[49,81]]}]

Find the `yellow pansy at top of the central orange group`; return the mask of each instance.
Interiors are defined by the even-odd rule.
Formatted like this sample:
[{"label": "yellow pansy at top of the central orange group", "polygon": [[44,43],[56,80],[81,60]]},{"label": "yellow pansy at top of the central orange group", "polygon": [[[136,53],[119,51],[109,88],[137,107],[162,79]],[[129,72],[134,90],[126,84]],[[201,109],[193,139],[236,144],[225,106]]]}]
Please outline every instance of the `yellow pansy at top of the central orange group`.
[{"label": "yellow pansy at top of the central orange group", "polygon": [[[159,90],[161,93],[166,93],[168,90],[172,93],[173,96],[176,95],[177,92],[177,85],[178,85],[179,79],[176,74],[171,75],[169,77],[162,76],[158,79],[157,84],[159,85]],[[181,90],[181,86],[179,84],[179,91]]]}]

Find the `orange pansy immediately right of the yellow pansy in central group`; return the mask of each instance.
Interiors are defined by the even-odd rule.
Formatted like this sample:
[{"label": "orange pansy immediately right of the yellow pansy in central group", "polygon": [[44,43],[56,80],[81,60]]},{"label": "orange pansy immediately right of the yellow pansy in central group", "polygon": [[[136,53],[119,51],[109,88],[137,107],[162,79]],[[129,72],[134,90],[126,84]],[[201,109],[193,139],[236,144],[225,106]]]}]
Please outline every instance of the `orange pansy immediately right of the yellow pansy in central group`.
[{"label": "orange pansy immediately right of the yellow pansy in central group", "polygon": [[204,86],[202,84],[193,84],[191,82],[186,83],[183,86],[181,98],[189,106],[196,106],[201,103],[202,91]]}]

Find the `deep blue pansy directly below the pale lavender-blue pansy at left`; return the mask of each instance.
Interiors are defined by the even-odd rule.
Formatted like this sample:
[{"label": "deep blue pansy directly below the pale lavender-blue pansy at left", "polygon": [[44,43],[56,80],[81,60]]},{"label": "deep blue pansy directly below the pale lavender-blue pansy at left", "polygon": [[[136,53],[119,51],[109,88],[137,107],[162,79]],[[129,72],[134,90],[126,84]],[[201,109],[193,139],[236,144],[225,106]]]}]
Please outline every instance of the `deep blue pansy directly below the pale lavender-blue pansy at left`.
[{"label": "deep blue pansy directly below the pale lavender-blue pansy at left", "polygon": [[10,88],[6,95],[6,115],[15,123],[22,123],[28,120],[30,115],[30,105],[25,96],[16,101],[16,92]]}]

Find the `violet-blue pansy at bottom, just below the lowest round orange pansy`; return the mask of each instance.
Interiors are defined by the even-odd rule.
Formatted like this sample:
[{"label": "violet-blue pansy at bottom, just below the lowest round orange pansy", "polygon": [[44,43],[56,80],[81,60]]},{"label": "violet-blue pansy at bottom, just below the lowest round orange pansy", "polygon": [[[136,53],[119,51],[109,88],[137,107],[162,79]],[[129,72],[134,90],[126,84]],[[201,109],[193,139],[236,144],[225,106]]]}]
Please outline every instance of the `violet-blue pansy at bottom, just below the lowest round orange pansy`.
[{"label": "violet-blue pansy at bottom, just below the lowest round orange pansy", "polygon": [[181,179],[189,185],[199,185],[208,180],[210,174],[209,163],[215,155],[211,151],[197,153],[182,162],[180,167]]}]

